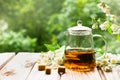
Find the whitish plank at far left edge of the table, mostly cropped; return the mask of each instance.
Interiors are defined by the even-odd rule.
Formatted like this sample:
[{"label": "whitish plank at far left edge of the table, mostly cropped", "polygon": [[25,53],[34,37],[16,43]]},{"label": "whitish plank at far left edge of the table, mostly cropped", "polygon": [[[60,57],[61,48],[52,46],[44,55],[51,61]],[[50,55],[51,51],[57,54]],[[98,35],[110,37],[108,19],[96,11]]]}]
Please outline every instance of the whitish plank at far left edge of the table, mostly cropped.
[{"label": "whitish plank at far left edge of the table, mostly cropped", "polygon": [[0,69],[15,56],[15,53],[0,53]]}]

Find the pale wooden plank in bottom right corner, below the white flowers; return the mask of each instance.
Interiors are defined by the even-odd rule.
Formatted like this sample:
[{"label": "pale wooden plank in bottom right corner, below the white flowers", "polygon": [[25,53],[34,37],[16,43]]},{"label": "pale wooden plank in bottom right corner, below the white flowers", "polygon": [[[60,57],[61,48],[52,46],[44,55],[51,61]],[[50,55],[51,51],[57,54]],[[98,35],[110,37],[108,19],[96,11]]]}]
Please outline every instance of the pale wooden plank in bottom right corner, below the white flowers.
[{"label": "pale wooden plank in bottom right corner, below the white flowers", "polygon": [[106,80],[120,80],[120,75],[119,75],[120,71],[118,71],[117,68],[113,68],[112,72],[105,72],[104,70],[103,72],[106,77]]}]

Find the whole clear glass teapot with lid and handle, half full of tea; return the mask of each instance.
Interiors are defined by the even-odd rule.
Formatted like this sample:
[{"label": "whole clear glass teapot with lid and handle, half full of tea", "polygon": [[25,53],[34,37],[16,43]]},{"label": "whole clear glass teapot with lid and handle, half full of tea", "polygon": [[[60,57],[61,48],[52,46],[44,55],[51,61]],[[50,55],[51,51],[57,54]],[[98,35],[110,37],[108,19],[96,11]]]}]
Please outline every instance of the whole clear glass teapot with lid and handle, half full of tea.
[{"label": "whole clear glass teapot with lid and handle, half full of tea", "polygon": [[[101,35],[93,35],[92,29],[82,26],[80,21],[78,21],[78,26],[68,28],[64,57],[66,68],[78,72],[94,70],[96,67],[94,37],[100,37],[104,40],[106,51],[106,40]],[[104,54],[97,59],[104,57]]]}]

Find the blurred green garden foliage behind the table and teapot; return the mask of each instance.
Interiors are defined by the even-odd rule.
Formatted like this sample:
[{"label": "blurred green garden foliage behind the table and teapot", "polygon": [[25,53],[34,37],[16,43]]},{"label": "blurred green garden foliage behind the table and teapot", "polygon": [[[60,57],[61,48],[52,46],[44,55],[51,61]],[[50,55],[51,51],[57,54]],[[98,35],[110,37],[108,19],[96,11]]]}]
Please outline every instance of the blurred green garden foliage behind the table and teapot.
[{"label": "blurred green garden foliage behind the table and teapot", "polygon": [[[62,46],[64,32],[76,26],[91,27],[93,18],[105,20],[105,14],[97,7],[100,0],[0,0],[0,52],[47,51],[45,44]],[[119,0],[104,0],[120,24]],[[106,31],[93,30],[109,41],[108,51],[120,52],[116,36]],[[96,40],[97,47],[104,43]],[[57,45],[58,44],[58,45]],[[49,46],[50,46],[49,45]]]}]

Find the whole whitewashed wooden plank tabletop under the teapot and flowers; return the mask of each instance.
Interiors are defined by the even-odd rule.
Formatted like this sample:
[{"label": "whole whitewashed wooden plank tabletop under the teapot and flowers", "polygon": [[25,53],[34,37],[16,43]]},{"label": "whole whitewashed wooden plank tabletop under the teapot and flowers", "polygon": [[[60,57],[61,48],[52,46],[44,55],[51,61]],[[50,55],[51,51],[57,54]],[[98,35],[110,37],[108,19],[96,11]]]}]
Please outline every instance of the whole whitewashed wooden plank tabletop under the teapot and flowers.
[{"label": "whole whitewashed wooden plank tabletop under the teapot and flowers", "polygon": [[39,53],[1,53],[0,80],[120,80],[120,69],[104,72],[97,68],[91,72],[73,72],[66,69],[61,79],[57,70],[50,75],[38,71],[36,63]]}]

